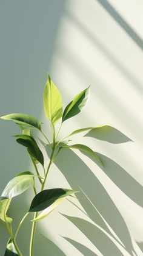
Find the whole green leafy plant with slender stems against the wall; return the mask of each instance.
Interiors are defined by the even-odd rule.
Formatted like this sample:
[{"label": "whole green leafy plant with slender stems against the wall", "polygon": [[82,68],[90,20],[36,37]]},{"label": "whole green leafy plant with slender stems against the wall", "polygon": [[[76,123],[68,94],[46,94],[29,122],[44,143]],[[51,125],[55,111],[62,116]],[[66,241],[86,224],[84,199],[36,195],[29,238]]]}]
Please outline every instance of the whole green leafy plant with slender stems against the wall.
[{"label": "whole green leafy plant with slender stems against the wall", "polygon": [[[55,162],[56,157],[58,157],[61,149],[78,149],[81,152],[84,152],[91,157],[95,158],[96,161],[102,165],[101,160],[99,159],[96,153],[83,144],[73,144],[68,145],[68,141],[64,141],[65,138],[73,136],[77,133],[84,132],[86,130],[91,130],[95,127],[87,127],[83,129],[78,129],[66,135],[61,140],[57,140],[59,132],[61,130],[62,124],[67,119],[77,115],[81,112],[81,110],[87,104],[88,98],[90,94],[90,87],[86,88],[81,93],[77,94],[75,98],[65,107],[64,112],[62,111],[62,97],[56,85],[53,83],[50,76],[48,76],[47,82],[44,88],[44,112],[45,116],[50,120],[52,127],[52,143],[48,139],[47,135],[42,130],[42,123],[35,117],[30,115],[25,115],[23,113],[12,113],[9,115],[2,116],[1,119],[4,120],[12,120],[21,128],[22,134],[15,135],[16,141],[25,146],[27,148],[28,155],[30,156],[33,166],[35,168],[36,174],[33,172],[21,172],[18,176],[14,177],[10,182],[8,182],[7,186],[4,188],[4,191],[1,194],[0,200],[0,219],[5,222],[7,231],[10,235],[10,239],[7,243],[7,248],[5,251],[5,256],[8,255],[19,255],[22,256],[21,251],[16,243],[16,238],[19,232],[20,227],[22,226],[25,218],[28,216],[30,212],[34,212],[34,216],[32,219],[32,233],[30,238],[30,256],[34,255],[34,240],[35,240],[35,230],[36,230],[36,222],[48,216],[54,209],[59,205],[61,201],[63,201],[67,196],[76,193],[77,191],[69,190],[65,188],[53,188],[45,190],[45,183],[47,181],[48,172],[50,166],[53,162]],[[56,131],[56,124],[61,119],[61,124]],[[35,138],[30,133],[31,129],[37,129],[42,133],[44,138],[47,140],[47,143],[52,148],[52,152],[50,155],[50,159],[45,168],[45,159],[42,154],[41,149],[36,143]],[[44,170],[44,177],[42,178],[39,174],[38,163],[42,165]],[[39,183],[41,184],[41,190],[37,193],[37,188],[35,187],[35,179],[39,179]],[[21,222],[16,229],[15,235],[13,235],[12,231],[12,219],[7,215],[8,207],[10,206],[10,202],[12,198],[20,195],[28,188],[32,187],[35,196],[33,197],[32,203],[27,213],[25,213]],[[42,211],[42,212],[41,212]],[[39,212],[41,212],[39,214]]]}]

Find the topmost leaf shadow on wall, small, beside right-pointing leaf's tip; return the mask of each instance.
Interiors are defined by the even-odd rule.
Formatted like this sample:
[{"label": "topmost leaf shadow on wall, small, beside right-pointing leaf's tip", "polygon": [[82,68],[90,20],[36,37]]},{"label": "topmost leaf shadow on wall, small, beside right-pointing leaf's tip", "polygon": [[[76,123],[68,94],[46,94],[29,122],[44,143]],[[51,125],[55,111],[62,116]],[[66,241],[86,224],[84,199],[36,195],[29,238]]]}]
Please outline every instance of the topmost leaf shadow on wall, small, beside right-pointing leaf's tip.
[{"label": "topmost leaf shadow on wall, small, beside right-pointing leaf's tip", "polygon": [[132,141],[124,133],[111,126],[101,126],[91,129],[84,137],[96,138],[98,140],[108,141],[110,143],[119,144]]}]

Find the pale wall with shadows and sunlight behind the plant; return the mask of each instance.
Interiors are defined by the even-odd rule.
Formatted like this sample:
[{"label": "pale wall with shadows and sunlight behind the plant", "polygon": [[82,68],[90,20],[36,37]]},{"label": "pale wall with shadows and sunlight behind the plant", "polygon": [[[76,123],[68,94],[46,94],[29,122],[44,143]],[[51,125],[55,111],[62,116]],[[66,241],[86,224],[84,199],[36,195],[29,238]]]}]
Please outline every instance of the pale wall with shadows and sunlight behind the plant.
[{"label": "pale wall with shadows and sunlight behind the plant", "polygon": [[[80,192],[39,222],[35,256],[143,255],[142,9],[141,0],[0,1],[1,116],[28,113],[49,133],[42,105],[48,72],[64,107],[91,85],[87,107],[65,122],[59,138],[82,127],[108,125],[71,141],[98,152],[104,168],[76,150],[63,150],[52,166],[48,188]],[[0,127],[2,192],[9,179],[33,167],[25,149],[10,137],[19,128],[6,121]],[[13,200],[14,229],[32,193]],[[24,256],[30,219],[19,232]],[[7,240],[1,227],[1,256]]]}]

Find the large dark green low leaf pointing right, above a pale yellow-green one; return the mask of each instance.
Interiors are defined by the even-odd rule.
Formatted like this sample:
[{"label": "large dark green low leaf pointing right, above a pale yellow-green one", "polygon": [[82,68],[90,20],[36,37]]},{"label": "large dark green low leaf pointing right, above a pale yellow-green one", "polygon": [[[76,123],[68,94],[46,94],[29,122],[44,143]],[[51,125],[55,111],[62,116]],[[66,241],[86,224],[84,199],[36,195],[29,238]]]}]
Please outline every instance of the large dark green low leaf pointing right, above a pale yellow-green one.
[{"label": "large dark green low leaf pointing right, above a pale yellow-green one", "polygon": [[29,212],[39,212],[55,203],[58,199],[61,199],[77,191],[67,190],[65,188],[52,188],[50,190],[43,190],[36,194],[30,205]]}]

